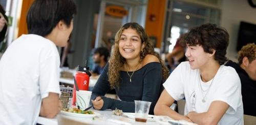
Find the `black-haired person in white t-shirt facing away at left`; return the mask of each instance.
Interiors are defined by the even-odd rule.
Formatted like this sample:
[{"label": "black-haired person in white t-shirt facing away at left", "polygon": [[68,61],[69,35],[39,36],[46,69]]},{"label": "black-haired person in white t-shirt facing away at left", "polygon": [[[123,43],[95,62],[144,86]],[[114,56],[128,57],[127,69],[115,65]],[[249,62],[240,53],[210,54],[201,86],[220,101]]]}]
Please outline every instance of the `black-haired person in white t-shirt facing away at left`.
[{"label": "black-haired person in white t-shirt facing away at left", "polygon": [[35,0],[27,14],[28,35],[17,38],[0,60],[0,123],[36,124],[53,118],[59,101],[60,58],[73,29],[72,0]]}]

